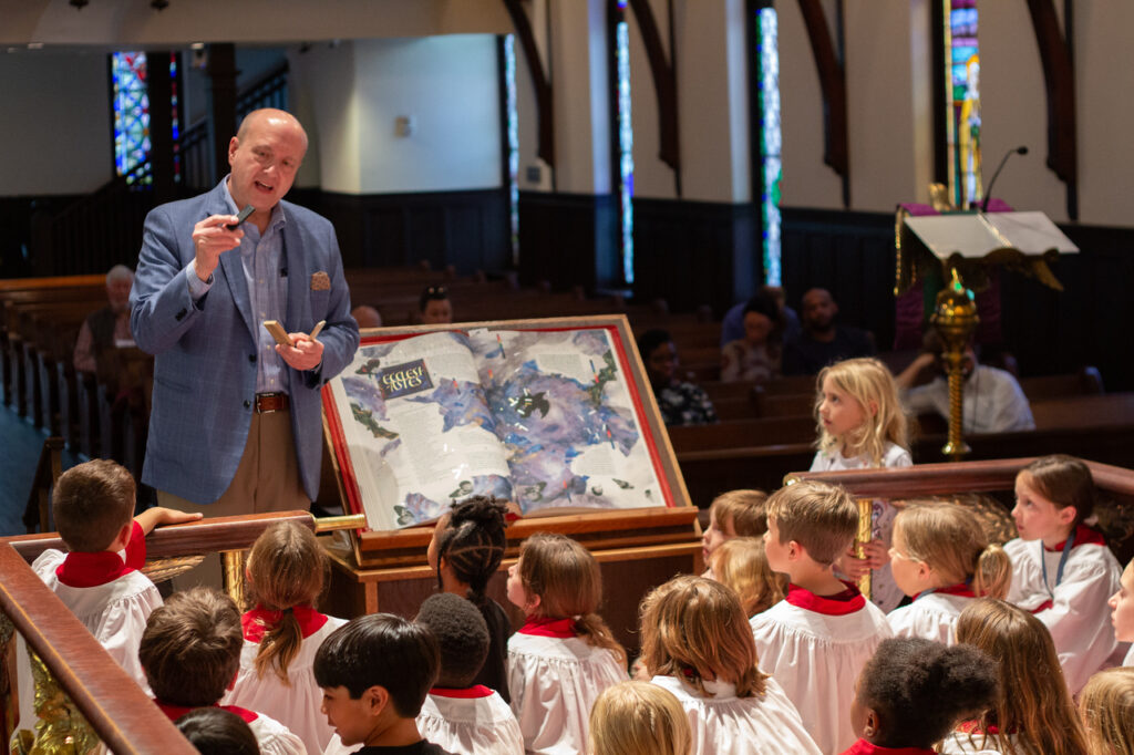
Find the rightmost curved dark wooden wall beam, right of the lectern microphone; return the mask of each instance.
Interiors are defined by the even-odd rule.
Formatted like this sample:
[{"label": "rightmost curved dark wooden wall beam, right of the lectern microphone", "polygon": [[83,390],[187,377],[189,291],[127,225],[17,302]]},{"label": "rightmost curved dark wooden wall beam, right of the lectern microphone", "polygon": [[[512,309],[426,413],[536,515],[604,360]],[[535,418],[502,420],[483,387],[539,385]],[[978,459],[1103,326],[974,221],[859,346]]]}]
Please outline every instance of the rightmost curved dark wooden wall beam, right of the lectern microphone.
[{"label": "rightmost curved dark wooden wall beam, right of the lectern microphone", "polygon": [[1067,217],[1078,219],[1078,156],[1075,70],[1070,45],[1059,28],[1052,0],[1027,0],[1035,44],[1043,65],[1048,105],[1048,168],[1067,185]]}]

